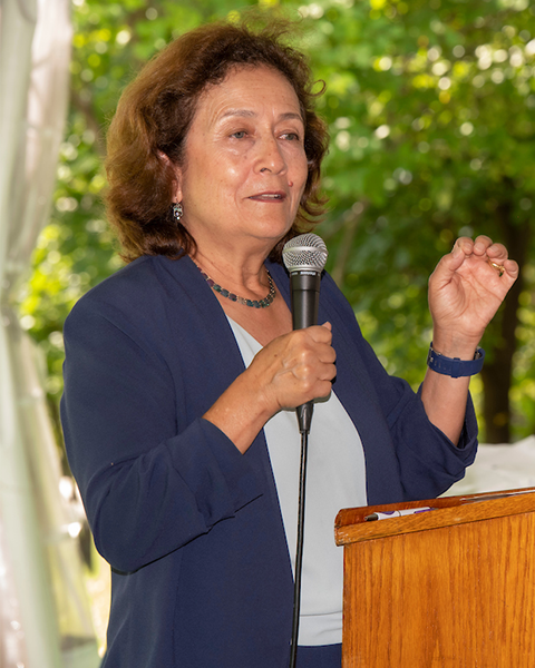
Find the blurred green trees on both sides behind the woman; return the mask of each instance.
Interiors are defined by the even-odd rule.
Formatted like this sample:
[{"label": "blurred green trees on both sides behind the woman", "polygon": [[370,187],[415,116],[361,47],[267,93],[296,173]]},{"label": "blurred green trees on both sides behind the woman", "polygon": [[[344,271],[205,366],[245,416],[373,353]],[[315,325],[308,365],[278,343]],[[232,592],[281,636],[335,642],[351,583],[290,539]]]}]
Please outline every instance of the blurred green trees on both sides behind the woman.
[{"label": "blurred green trees on both sides behind the woman", "polygon": [[[22,326],[61,394],[62,322],[121,266],[100,196],[106,126],[145,60],[247,7],[301,17],[295,40],[327,84],[328,268],[390,373],[415,386],[431,323],[427,279],[458,235],[505,243],[522,277],[488,328],[473,382],[483,439],[534,432],[535,3],[528,0],[74,0],[71,105],[55,206],[20,295]],[[319,86],[320,88],[320,86]]]}]

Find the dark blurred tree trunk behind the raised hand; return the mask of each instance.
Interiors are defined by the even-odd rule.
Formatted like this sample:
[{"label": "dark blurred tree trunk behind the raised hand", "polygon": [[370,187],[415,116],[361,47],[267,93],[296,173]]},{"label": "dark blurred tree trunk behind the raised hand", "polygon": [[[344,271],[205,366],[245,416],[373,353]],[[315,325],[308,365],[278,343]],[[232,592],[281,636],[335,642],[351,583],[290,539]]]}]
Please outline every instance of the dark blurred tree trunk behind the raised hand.
[{"label": "dark blurred tree trunk behind the raised hand", "polygon": [[[514,188],[513,185],[510,185]],[[500,204],[496,209],[498,226],[509,257],[524,266],[529,248],[529,224],[513,219],[512,203]],[[505,303],[487,328],[484,338],[490,346],[481,371],[485,419],[484,439],[487,443],[510,441],[509,387],[513,373],[513,355],[516,351],[519,296],[524,289],[522,273],[507,295]],[[487,344],[488,345],[488,344]]]}]

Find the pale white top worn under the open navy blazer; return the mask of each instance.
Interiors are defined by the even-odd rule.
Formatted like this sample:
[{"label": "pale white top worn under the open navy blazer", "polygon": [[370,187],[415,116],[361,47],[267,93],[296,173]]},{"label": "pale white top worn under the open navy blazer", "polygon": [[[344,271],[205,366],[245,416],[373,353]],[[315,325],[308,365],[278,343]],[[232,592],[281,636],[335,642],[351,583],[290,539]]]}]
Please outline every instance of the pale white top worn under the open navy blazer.
[{"label": "pale white top worn under the open navy blazer", "polygon": [[[228,318],[245,366],[261,344]],[[292,568],[295,568],[301,435],[295,411],[264,426]],[[366,462],[354,424],[331,392],[314,404],[309,435],[299,645],[342,641],[343,549],[334,543],[342,508],[367,505]]]}]

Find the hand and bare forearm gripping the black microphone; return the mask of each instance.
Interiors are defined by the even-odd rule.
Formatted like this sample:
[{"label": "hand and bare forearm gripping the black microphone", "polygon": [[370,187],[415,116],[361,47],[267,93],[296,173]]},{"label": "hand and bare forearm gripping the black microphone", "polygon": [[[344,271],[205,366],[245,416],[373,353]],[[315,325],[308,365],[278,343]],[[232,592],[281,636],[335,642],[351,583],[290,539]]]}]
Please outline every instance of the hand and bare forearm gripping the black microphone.
[{"label": "hand and bare forearm gripping the black microphone", "polygon": [[330,323],[278,336],[203,415],[245,452],[282,409],[295,409],[331,392],[337,354]]}]

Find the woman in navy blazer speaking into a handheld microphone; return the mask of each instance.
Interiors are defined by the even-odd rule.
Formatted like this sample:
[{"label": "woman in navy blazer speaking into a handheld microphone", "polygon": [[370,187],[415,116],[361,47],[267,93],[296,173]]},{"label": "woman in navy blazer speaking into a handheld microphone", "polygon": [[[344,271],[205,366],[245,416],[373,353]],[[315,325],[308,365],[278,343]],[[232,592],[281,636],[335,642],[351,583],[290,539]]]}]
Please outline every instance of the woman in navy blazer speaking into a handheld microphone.
[{"label": "woman in navy blazer speaking into a handheld microphone", "polygon": [[130,85],[109,130],[108,212],[129,264],[66,322],[62,400],[113,568],[106,668],[288,666],[295,406],[322,399],[299,668],[340,667],[335,512],[435,497],[475,456],[467,374],[516,263],[487,237],[440,261],[434,348],[465,375],[430,355],[417,395],[386,374],[328,275],[323,324],[292,332],[281,249],[321,209],[327,134],[307,63],[278,31],[185,35]]}]

